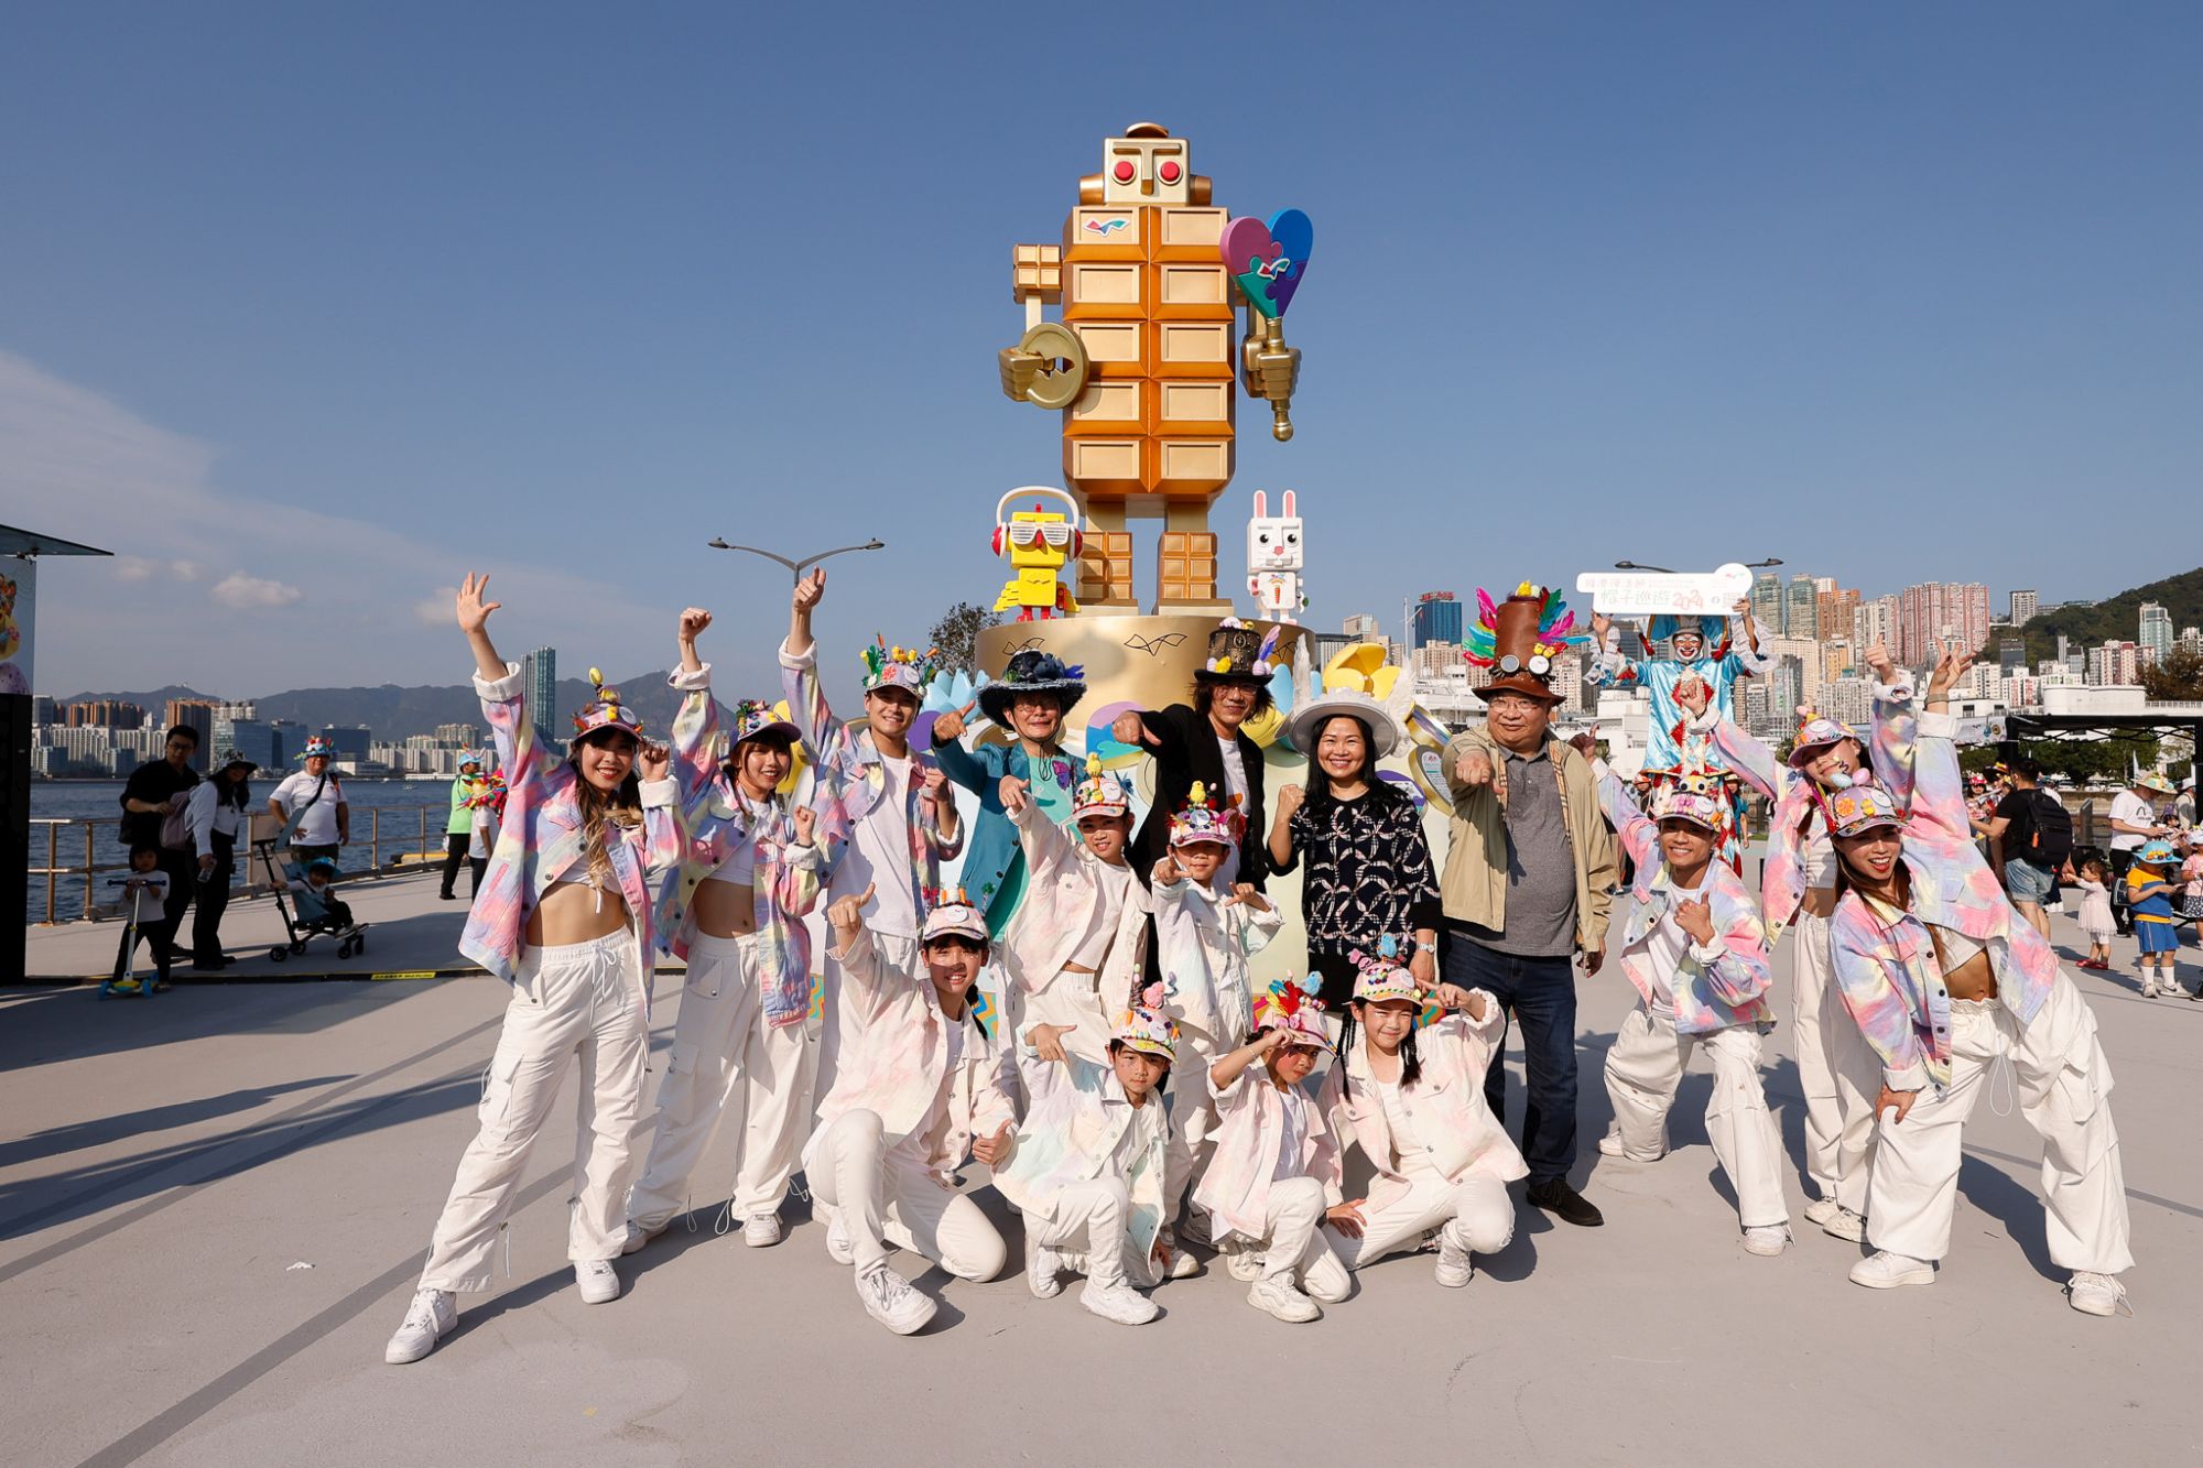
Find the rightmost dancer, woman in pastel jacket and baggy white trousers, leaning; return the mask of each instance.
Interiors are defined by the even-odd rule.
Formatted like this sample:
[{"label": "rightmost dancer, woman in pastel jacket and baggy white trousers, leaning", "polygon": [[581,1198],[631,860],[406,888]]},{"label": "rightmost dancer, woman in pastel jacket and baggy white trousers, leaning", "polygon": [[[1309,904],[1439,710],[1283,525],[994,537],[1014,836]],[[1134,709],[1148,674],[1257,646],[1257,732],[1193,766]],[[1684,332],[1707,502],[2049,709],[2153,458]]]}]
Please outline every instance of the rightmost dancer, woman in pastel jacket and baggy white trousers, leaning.
[{"label": "rightmost dancer, woman in pastel jacket and baggy white trousers, leaning", "polygon": [[2044,1232],[2051,1261],[2071,1272],[2066,1298],[2110,1316],[2126,1300],[2117,1276],[2135,1263],[2110,1062],[2058,954],[1974,846],[1945,712],[1969,663],[1945,655],[1925,712],[1903,701],[1886,714],[1884,785],[1828,802],[1844,886],[1831,919],[1835,979],[1884,1067],[1866,1208],[1875,1254],[1851,1278],[1873,1289],[1934,1283],[1965,1120],[2003,1060],[2020,1115],[2042,1137]]}]

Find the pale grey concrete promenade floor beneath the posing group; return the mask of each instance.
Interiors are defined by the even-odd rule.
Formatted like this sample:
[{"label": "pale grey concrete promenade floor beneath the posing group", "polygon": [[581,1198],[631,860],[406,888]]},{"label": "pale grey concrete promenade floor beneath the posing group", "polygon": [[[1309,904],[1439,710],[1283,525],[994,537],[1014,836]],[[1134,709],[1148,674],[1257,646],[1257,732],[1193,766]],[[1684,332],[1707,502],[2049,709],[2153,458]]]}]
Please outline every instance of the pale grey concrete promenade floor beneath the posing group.
[{"label": "pale grey concrete promenade floor beneath the posing group", "polygon": [[[456,930],[456,906],[436,921]],[[2058,939],[2071,957],[2071,924]],[[1787,968],[1784,946],[1782,994]],[[2203,1003],[2144,1001],[2130,970],[2077,976],[2117,1073],[2133,1318],[2064,1305],[2040,1148],[1987,1104],[1928,1289],[1846,1283],[1857,1248],[1802,1223],[1780,1259],[1738,1248],[1703,1060],[1668,1159],[1599,1159],[1597,1067],[1630,1005],[1608,972],[1582,990],[1577,1168],[1608,1226],[1524,1208],[1467,1289],[1439,1289],[1430,1256],[1394,1259],[1287,1327],[1214,1270],[1128,1331],[1084,1314],[1075,1285],[1031,1298],[1013,1263],[989,1285],[923,1274],[943,1309],[901,1340],[861,1314],[802,1201],[786,1243],[747,1250],[698,1195],[696,1230],[623,1261],[626,1298],[586,1307],[564,1256],[568,1084],[509,1278],[467,1296],[414,1367],[386,1367],[383,1340],[474,1131],[502,985],[9,990],[0,1464],[2194,1461]],[[661,1056],[676,1007],[661,983]],[[1787,1025],[1767,1080],[1795,1164]],[[1016,1219],[983,1201],[1016,1261]]]}]

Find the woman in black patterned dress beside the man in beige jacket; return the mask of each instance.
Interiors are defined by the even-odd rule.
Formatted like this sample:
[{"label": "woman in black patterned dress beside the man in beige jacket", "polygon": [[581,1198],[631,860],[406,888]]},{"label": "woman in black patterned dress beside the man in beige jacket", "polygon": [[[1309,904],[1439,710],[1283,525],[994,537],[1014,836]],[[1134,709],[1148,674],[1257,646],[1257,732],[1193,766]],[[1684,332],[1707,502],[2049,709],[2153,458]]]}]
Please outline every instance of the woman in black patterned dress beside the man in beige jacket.
[{"label": "woman in black patterned dress beside the man in beige jacket", "polygon": [[1269,829],[1271,871],[1306,864],[1300,913],[1309,928],[1309,968],[1324,976],[1322,999],[1346,1012],[1355,992],[1353,950],[1375,952],[1392,935],[1414,939],[1408,968],[1436,985],[1439,877],[1414,800],[1377,778],[1370,723],[1355,714],[1322,719],[1302,745],[1309,785],[1278,791]]}]

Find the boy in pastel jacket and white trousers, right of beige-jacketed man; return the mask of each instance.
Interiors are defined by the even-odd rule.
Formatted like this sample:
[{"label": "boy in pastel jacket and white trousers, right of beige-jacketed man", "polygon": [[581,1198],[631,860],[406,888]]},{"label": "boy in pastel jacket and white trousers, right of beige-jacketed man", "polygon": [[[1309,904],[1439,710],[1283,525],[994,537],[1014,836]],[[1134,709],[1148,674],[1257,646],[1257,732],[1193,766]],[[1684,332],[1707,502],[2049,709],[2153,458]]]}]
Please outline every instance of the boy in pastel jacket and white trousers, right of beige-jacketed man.
[{"label": "boy in pastel jacket and white trousers, right of beige-jacketed man", "polygon": [[1776,1027],[1773,970],[1758,906],[1716,860],[1729,800],[1716,778],[1681,771],[1657,789],[1650,820],[1604,760],[1595,769],[1599,809],[1637,868],[1621,972],[1639,994],[1606,1051],[1615,1126],[1599,1151],[1628,1162],[1668,1153],[1668,1109],[1690,1051],[1703,1045],[1714,1056],[1705,1137],[1736,1190],[1745,1252],[1771,1259],[1789,1248],[1782,1137],[1760,1087],[1760,1036]]}]

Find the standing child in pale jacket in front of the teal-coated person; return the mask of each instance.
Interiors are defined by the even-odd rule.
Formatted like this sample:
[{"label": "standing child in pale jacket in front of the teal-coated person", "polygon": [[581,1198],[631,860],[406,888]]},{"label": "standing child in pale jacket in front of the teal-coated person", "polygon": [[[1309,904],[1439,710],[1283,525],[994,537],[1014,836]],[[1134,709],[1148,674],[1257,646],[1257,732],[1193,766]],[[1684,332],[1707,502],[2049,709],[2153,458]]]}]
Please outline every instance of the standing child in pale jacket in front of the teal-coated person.
[{"label": "standing child in pale jacket in front of the teal-coated person", "polygon": [[1102,774],[1099,756],[1086,756],[1071,805],[1077,840],[1042,813],[1018,776],[1002,776],[1000,798],[1031,871],[1002,943],[1009,1003],[1018,1007],[1011,1027],[1027,1034],[1033,1023],[1053,1025],[1064,1049],[1106,1065],[1110,1014],[1124,1010],[1146,943],[1146,888],[1124,857],[1132,791]]}]

